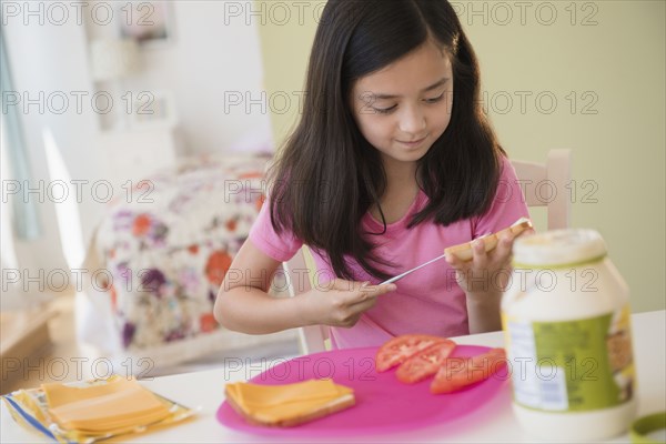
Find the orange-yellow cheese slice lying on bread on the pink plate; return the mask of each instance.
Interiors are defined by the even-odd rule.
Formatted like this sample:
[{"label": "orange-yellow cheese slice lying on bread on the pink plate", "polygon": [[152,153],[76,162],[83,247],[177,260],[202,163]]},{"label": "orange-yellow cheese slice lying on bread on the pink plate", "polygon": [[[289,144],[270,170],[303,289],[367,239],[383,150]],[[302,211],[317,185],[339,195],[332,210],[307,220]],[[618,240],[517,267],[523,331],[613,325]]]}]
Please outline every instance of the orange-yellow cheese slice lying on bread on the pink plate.
[{"label": "orange-yellow cheese slice lying on bread on the pink plate", "polygon": [[332,380],[310,380],[285,385],[228,384],[226,392],[248,415],[280,422],[306,415],[353,390]]}]

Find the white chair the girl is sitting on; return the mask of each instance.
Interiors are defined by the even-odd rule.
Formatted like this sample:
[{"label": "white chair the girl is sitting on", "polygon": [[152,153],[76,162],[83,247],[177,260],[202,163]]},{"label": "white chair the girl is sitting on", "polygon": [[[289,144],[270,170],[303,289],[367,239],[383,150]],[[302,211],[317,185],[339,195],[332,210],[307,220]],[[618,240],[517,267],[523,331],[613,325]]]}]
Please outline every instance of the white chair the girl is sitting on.
[{"label": "white chair the girl is sitting on", "polygon": [[[571,182],[571,150],[551,150],[546,163],[512,161],[527,206],[545,206],[548,230],[569,226],[571,199],[567,185]],[[284,272],[290,279],[290,296],[295,296],[312,289],[314,262],[307,246],[303,246],[289,261],[283,263]],[[306,275],[307,279],[301,279]],[[299,278],[299,279],[295,279]],[[299,339],[303,354],[323,352],[330,345],[331,334],[327,325],[309,325],[299,329]]]}]

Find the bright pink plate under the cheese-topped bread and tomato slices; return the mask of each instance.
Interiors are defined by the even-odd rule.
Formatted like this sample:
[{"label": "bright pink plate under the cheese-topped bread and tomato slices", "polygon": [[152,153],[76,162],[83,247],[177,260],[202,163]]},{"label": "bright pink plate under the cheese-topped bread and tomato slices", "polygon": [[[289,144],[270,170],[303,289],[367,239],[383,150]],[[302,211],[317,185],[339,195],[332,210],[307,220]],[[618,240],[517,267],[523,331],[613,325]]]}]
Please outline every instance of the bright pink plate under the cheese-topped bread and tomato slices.
[{"label": "bright pink plate under the cheese-topped bread and tomato slices", "polygon": [[[474,356],[488,347],[458,345],[452,356]],[[356,405],[295,427],[264,427],[249,424],[226,402],[218,410],[225,426],[273,436],[349,436],[404,432],[454,421],[468,415],[495,396],[508,380],[501,370],[488,380],[452,394],[430,393],[432,377],[413,385],[395,377],[395,369],[377,373],[377,347],[346,349],[295,357],[250,380],[255,384],[279,385],[310,379],[332,377],[354,389]]]}]

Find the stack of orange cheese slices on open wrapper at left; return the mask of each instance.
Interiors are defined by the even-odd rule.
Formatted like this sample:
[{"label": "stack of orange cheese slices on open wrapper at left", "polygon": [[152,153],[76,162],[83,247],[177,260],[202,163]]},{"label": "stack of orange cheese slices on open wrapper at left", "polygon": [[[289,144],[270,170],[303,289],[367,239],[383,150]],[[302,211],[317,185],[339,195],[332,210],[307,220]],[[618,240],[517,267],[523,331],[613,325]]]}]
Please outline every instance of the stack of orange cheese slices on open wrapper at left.
[{"label": "stack of orange cheese slices on open wrapper at left", "polygon": [[107,431],[150,424],[169,415],[169,408],[134,380],[71,387],[43,384],[49,412],[64,428]]}]

